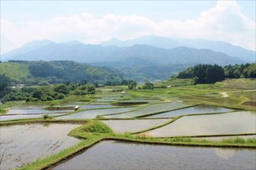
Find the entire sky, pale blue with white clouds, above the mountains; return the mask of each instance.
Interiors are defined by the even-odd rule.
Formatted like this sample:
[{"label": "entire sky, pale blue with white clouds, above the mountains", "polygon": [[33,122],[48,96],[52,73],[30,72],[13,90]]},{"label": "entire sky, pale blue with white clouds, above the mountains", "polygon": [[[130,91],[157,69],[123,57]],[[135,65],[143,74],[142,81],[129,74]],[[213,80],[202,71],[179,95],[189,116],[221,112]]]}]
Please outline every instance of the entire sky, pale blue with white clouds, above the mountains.
[{"label": "entire sky, pale blue with white clouds, above the mountains", "polygon": [[255,51],[255,1],[3,1],[1,54],[36,39],[97,44],[156,35]]}]

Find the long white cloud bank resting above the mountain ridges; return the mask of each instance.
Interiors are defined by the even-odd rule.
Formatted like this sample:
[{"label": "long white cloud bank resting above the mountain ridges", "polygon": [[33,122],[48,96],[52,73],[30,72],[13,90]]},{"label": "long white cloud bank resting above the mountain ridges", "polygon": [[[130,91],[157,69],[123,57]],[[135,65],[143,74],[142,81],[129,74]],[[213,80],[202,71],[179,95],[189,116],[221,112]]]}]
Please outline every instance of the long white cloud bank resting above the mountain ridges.
[{"label": "long white cloud bank resting above the mountain ridges", "polygon": [[100,43],[113,37],[131,39],[150,34],[227,41],[255,50],[255,22],[243,15],[236,1],[218,1],[214,8],[203,11],[194,20],[155,22],[138,15],[106,14],[97,18],[82,13],[23,25],[18,27],[1,19],[1,53],[35,39]]}]

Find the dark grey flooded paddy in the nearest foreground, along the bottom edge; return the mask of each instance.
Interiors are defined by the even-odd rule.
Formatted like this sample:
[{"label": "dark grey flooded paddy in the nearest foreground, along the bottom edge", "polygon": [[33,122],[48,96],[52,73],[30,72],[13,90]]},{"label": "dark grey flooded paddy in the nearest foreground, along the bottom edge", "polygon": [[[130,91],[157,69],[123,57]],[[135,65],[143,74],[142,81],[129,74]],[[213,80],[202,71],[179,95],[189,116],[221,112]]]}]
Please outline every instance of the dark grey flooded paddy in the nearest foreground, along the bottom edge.
[{"label": "dark grey flooded paddy in the nearest foreground, along the bottom edge", "polygon": [[53,169],[255,169],[256,150],[103,141]]}]

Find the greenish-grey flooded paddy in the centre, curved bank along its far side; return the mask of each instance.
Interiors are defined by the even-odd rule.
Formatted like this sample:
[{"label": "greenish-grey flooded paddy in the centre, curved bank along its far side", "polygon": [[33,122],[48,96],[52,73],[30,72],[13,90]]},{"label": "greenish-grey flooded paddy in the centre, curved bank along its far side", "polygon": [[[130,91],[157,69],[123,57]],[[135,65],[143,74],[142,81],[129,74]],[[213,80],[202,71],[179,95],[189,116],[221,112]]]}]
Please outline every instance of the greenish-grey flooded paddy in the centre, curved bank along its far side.
[{"label": "greenish-grey flooded paddy in the centre, curved bank along its far side", "polygon": [[117,115],[108,115],[106,118],[131,118],[131,117],[139,117],[141,115],[148,115],[160,111],[169,111],[175,110],[178,108],[184,108],[189,106],[189,104],[185,103],[157,103],[157,104],[150,104],[145,108],[138,110],[138,111],[131,111],[129,113],[117,114]]}]

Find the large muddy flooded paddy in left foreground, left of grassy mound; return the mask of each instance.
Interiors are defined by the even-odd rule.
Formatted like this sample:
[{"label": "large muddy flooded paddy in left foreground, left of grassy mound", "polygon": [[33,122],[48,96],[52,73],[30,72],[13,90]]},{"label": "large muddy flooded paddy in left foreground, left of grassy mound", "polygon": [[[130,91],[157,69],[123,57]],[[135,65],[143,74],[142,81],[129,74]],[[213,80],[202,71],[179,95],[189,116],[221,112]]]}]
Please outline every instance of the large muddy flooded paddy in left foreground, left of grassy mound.
[{"label": "large muddy flooded paddy in left foreground, left of grassy mound", "polygon": [[76,124],[26,124],[1,126],[0,169],[13,169],[75,145],[67,136]]}]

